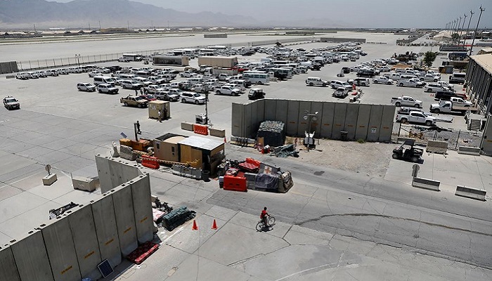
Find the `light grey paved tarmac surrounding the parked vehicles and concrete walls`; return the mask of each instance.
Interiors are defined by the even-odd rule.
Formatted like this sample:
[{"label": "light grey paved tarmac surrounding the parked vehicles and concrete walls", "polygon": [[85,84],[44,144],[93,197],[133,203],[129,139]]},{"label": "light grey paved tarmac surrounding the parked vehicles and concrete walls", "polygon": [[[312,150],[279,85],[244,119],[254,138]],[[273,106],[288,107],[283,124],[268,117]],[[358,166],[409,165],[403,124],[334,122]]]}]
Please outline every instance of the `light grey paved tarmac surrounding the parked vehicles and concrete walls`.
[{"label": "light grey paved tarmac surrounding the parked vehicles and concrete walls", "polygon": [[[370,55],[361,61],[387,58],[393,52],[410,49],[425,50],[425,47],[394,46],[391,42],[395,37],[387,34],[368,34],[368,37],[373,41],[386,40],[389,44],[365,44],[364,51]],[[100,45],[93,48],[97,46]],[[317,45],[299,45],[303,48],[313,46]],[[106,46],[101,47],[101,51],[104,48]],[[330,79],[342,66],[353,64],[330,65],[319,73],[323,79]],[[299,75],[290,81],[266,86],[267,97],[331,99],[328,89],[306,88],[305,77]],[[70,173],[96,176],[93,155],[108,155],[110,143],[117,141],[122,131],[133,136],[135,120],[141,122],[143,137],[154,138],[167,132],[186,135],[186,131],[179,129],[179,123],[193,122],[195,114],[204,112],[202,106],[172,103],[172,118],[160,124],[147,118],[147,110],[119,104],[118,98],[132,91],[120,90],[117,96],[77,92],[75,84],[78,81],[91,81],[86,74],[28,81],[1,78],[0,88],[21,100],[21,110],[0,110],[0,156],[4,159],[0,164],[0,244],[46,221],[49,209],[70,201],[84,203],[91,200],[97,192],[73,190]],[[422,98],[425,106],[431,102],[431,97],[421,93],[422,90],[389,87],[371,85],[364,89],[367,91],[364,102],[384,103],[391,96],[402,93]],[[211,95],[210,98],[212,122],[225,129],[231,127],[231,102],[247,100],[245,95]],[[452,126],[458,128],[462,123],[456,118]],[[229,145],[227,153],[228,157],[238,159],[251,155],[245,148]],[[488,171],[491,171],[491,161],[488,157],[455,152],[446,157],[424,155],[420,176],[439,179],[443,186],[441,192],[411,188],[408,183],[412,164],[394,159],[390,160],[384,179],[380,182],[358,179],[354,190],[346,188],[350,188],[350,178],[360,175],[322,168],[327,171],[325,177],[313,177],[312,173],[308,176],[298,171],[299,164],[294,159],[278,161],[294,172],[296,185],[286,196],[254,190],[226,192],[219,190],[216,181],[204,183],[171,175],[169,171],[153,171],[150,180],[153,193],[173,206],[186,205],[197,211],[199,230],[191,230],[191,222],[171,233],[160,229],[161,248],[140,266],[127,262],[119,266],[117,270],[122,275],[116,280],[492,279],[491,270],[486,269],[491,268],[488,253],[492,251],[489,249],[492,244],[488,216],[490,197],[487,202],[477,202],[457,199],[453,195],[453,186],[463,182],[490,190],[492,178]],[[58,175],[58,181],[49,187],[41,184],[42,176],[46,175],[45,164],[51,164]],[[318,171],[320,167],[308,170],[311,169]],[[376,181],[381,189],[364,181]],[[391,185],[398,187],[395,192],[403,192],[404,196],[396,198],[401,194],[378,191],[388,190]],[[361,193],[358,188],[364,186],[368,189]],[[448,204],[444,204],[445,201]],[[394,218],[366,221],[335,217],[333,221],[327,218],[309,222],[309,219],[328,212],[325,209],[328,202],[332,208],[332,211],[328,210],[330,214],[345,214],[357,208],[384,211],[383,206],[391,203],[387,208],[390,214],[385,215]],[[259,220],[257,213],[264,205],[268,205],[278,222],[273,230],[257,233],[254,230]],[[438,207],[455,209],[436,211]],[[419,218],[416,212],[426,216]],[[214,218],[219,230],[211,229]],[[302,221],[305,222],[299,223]],[[376,225],[376,221],[382,221],[382,224]],[[434,221],[444,222],[453,230],[426,227],[426,223]],[[468,259],[470,255],[472,258]],[[108,278],[114,279],[115,275]]]}]

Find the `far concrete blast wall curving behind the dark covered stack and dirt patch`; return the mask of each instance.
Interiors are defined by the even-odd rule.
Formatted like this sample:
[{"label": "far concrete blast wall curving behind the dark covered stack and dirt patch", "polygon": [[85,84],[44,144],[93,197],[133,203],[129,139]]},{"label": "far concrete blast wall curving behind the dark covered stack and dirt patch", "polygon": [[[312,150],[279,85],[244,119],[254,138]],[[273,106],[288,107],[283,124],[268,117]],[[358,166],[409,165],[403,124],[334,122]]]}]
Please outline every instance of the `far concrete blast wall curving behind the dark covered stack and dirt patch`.
[{"label": "far concrete blast wall curving behind the dark covered stack and dirt patch", "polygon": [[306,100],[262,99],[247,104],[233,103],[233,136],[255,138],[259,124],[266,120],[285,123],[287,136],[304,137],[309,131],[306,112],[314,114],[311,132],[316,138],[340,139],[342,131],[349,140],[391,141],[394,106],[362,105]]}]

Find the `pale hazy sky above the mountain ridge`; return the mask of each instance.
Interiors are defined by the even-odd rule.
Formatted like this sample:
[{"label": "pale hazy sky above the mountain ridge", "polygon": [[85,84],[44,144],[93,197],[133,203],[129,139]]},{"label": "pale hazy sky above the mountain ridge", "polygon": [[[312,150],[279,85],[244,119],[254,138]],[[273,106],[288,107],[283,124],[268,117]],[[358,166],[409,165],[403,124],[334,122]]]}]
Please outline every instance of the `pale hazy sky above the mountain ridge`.
[{"label": "pale hazy sky above the mountain ridge", "polygon": [[[71,0],[51,0],[69,2]],[[247,15],[261,21],[326,19],[353,27],[430,27],[444,28],[464,14],[465,28],[474,12],[470,29],[477,25],[480,5],[480,28],[492,29],[490,0],[136,0],[177,11],[211,11]],[[463,22],[463,20],[461,20]],[[461,24],[462,25],[462,24]],[[460,25],[460,26],[461,26]],[[472,28],[473,27],[473,28]]]}]

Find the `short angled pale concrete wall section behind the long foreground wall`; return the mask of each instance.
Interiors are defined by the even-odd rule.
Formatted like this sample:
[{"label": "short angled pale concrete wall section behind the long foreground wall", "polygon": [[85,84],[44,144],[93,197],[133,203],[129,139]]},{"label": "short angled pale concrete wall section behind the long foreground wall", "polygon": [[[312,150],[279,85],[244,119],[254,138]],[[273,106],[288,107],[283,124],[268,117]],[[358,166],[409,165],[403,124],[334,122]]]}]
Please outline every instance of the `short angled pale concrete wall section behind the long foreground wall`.
[{"label": "short angled pale concrete wall section behind the long foreground wall", "polygon": [[119,159],[101,155],[96,155],[96,166],[101,183],[101,193],[108,192],[142,174],[136,164],[130,166]]}]

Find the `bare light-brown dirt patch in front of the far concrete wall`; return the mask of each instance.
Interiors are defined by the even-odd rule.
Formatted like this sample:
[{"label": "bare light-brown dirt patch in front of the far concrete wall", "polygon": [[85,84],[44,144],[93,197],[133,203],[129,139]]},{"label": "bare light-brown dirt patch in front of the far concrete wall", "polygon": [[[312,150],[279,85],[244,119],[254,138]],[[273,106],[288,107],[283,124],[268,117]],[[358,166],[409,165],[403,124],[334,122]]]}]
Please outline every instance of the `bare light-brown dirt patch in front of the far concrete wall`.
[{"label": "bare light-brown dirt patch in front of the far concrete wall", "polygon": [[383,177],[389,166],[394,143],[358,143],[356,141],[316,140],[314,150],[297,145],[299,161]]}]

